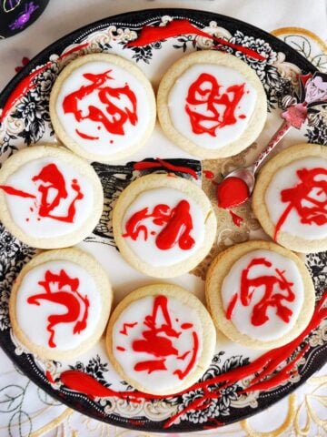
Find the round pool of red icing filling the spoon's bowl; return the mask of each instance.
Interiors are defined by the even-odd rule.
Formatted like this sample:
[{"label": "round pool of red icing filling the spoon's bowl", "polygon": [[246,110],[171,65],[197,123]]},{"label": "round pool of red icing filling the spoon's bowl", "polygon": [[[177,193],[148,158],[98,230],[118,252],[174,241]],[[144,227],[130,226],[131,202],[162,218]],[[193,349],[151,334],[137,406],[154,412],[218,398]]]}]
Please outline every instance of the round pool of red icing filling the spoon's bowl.
[{"label": "round pool of red icing filling the spoon's bowl", "polygon": [[241,178],[225,178],[217,185],[219,208],[233,208],[250,197],[249,188]]}]

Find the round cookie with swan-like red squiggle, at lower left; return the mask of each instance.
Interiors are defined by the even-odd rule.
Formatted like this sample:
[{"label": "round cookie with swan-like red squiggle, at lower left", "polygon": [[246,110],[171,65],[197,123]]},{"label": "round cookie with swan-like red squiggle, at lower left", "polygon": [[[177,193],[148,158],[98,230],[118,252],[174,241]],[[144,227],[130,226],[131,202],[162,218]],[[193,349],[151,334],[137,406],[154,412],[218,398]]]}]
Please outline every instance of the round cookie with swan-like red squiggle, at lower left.
[{"label": "round cookie with swan-like red squiggle, at lower left", "polygon": [[15,336],[41,359],[66,360],[100,339],[113,293],[104,269],[79,249],[37,255],[19,273],[9,300]]}]

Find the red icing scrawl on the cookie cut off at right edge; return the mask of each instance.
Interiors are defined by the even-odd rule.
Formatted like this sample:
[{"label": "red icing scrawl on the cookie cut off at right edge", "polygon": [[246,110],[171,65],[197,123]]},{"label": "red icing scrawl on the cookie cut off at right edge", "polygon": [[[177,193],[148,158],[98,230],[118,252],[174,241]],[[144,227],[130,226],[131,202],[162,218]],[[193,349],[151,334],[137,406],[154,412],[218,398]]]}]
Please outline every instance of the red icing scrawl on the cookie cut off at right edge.
[{"label": "red icing scrawl on the cookie cut off at right edge", "polygon": [[[300,182],[292,188],[285,188],[281,191],[281,200],[288,203],[282,216],[278,219],[273,234],[277,239],[278,232],[288,218],[290,212],[295,210],[303,225],[315,224],[323,226],[327,223],[327,169],[326,168],[302,168],[297,170]],[[320,178],[321,177],[321,178]],[[325,177],[322,180],[322,177]],[[318,194],[323,199],[313,198]],[[310,206],[309,206],[309,205]]]}]

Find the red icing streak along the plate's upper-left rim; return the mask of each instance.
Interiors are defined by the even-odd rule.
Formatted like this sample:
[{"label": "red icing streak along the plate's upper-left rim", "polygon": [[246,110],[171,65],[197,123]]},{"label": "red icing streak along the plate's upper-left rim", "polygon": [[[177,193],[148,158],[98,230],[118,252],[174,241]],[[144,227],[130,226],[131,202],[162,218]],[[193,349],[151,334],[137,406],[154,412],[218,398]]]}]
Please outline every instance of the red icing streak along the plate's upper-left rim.
[{"label": "red icing streak along the plate's upper-left rim", "polygon": [[[58,60],[64,59],[65,56],[68,56],[78,50],[81,50],[85,46],[88,46],[88,43],[81,44],[80,46],[73,47],[68,52],[64,53],[64,55],[59,56]],[[5,102],[5,107],[3,108],[3,112],[0,116],[0,123],[2,123],[5,120],[5,117],[8,115],[10,110],[15,107],[15,105],[18,103],[18,101],[25,96],[28,91],[31,91],[35,88],[37,85],[37,80],[35,80],[36,76],[38,76],[40,73],[43,73],[46,68],[52,65],[52,62],[47,62],[45,66],[41,66],[40,68],[37,68],[33,73],[26,76],[19,84],[15,87],[14,91],[10,94],[8,99]]]}]

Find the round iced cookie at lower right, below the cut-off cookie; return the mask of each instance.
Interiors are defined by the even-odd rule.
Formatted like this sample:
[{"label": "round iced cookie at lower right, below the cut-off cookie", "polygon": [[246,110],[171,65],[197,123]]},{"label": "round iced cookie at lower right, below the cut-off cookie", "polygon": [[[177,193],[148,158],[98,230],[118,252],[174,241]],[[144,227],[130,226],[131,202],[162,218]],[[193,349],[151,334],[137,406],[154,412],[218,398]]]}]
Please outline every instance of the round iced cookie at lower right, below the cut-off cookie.
[{"label": "round iced cookie at lower right, below the cut-off cookie", "polygon": [[205,282],[213,322],[233,341],[274,349],[296,338],[314,310],[314,288],[302,260],[267,241],[247,241],[213,260]]}]

